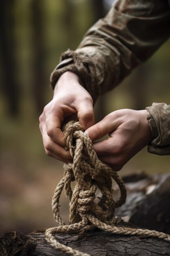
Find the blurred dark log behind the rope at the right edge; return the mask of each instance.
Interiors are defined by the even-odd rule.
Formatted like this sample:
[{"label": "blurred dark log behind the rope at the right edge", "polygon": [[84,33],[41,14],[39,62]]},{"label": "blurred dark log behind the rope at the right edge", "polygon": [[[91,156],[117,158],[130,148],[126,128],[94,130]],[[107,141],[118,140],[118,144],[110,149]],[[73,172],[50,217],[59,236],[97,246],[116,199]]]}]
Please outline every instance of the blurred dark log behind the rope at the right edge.
[{"label": "blurred dark log behind the rope at the right edge", "polygon": [[115,215],[139,227],[170,234],[170,174],[124,177],[126,203]]}]

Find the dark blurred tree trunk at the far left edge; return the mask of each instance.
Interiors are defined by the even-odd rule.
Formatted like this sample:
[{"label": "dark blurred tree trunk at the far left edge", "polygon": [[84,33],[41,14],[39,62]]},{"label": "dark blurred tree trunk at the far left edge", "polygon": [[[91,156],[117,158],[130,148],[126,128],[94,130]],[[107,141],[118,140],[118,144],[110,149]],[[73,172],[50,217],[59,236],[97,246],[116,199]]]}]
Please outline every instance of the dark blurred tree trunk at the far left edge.
[{"label": "dark blurred tree trunk at the far left edge", "polygon": [[20,91],[16,77],[15,61],[15,19],[13,9],[15,1],[2,1],[0,7],[0,55],[2,59],[2,90],[7,99],[8,113],[18,116]]}]

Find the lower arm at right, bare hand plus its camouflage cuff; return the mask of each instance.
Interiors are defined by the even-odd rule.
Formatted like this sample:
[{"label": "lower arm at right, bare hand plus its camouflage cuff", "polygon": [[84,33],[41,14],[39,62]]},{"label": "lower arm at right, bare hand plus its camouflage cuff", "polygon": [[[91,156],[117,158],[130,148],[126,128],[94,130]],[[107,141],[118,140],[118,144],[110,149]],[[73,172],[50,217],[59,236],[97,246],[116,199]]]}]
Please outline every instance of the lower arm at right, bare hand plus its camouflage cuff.
[{"label": "lower arm at right, bare hand plus its camouflage cuff", "polygon": [[114,111],[86,130],[99,159],[115,171],[148,144],[150,153],[170,155],[170,106],[153,103],[146,109]]}]

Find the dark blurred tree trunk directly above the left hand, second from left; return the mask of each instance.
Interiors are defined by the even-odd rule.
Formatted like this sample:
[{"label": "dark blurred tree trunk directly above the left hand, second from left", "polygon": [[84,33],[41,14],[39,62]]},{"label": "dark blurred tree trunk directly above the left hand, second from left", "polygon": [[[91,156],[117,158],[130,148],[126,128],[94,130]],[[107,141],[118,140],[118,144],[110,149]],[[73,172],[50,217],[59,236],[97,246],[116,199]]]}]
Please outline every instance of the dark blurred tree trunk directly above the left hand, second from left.
[{"label": "dark blurred tree trunk directly above the left hand, second from left", "polygon": [[32,31],[33,31],[33,82],[32,94],[36,108],[36,114],[39,116],[45,106],[45,89],[49,81],[46,81],[45,54],[44,45],[44,5],[40,0],[31,1]]}]

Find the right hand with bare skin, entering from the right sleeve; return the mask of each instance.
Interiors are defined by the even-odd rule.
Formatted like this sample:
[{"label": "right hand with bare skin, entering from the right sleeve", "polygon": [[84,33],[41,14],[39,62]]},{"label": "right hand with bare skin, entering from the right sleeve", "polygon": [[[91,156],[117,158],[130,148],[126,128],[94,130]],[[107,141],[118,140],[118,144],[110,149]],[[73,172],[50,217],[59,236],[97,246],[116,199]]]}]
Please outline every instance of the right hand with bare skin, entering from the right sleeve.
[{"label": "right hand with bare skin, entering from the right sleeve", "polygon": [[94,143],[99,159],[115,171],[152,140],[147,110],[122,109],[110,113],[86,132],[92,141],[109,134],[109,138]]}]

